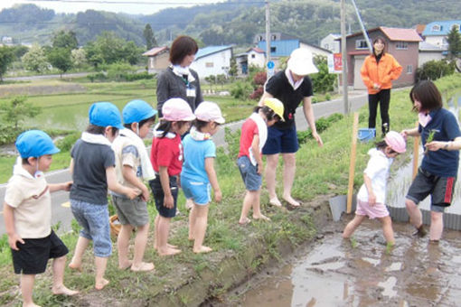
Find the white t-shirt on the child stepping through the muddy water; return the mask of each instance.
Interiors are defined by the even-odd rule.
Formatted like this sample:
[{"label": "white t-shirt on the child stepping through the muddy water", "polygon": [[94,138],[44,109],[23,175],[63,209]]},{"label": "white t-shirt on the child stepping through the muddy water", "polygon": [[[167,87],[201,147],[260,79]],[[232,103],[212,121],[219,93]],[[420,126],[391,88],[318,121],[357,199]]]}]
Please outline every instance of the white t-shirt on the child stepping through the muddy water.
[{"label": "white t-shirt on the child stepping through the muddy water", "polygon": [[[372,180],[373,193],[376,196],[376,202],[385,204],[386,201],[386,183],[389,176],[390,164],[393,159],[388,158],[381,150],[372,148],[368,151],[370,154],[370,161],[368,161],[364,174]],[[368,191],[365,184],[357,194],[357,199],[368,201]]]}]

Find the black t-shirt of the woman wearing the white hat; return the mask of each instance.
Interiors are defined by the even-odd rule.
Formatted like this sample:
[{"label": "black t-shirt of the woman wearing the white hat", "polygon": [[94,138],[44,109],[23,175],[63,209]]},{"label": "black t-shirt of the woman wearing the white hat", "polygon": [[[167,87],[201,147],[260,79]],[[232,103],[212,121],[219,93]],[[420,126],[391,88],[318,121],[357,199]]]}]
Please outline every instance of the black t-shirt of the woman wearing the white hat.
[{"label": "black t-shirt of the woman wearing the white hat", "polygon": [[296,90],[289,83],[285,70],[278,71],[272,78],[268,79],[264,88],[274,98],[278,98],[285,108],[285,122],[276,123],[279,129],[287,129],[295,125],[296,107],[299,107],[303,98],[314,95],[312,91],[312,81],[306,76],[303,83]]}]

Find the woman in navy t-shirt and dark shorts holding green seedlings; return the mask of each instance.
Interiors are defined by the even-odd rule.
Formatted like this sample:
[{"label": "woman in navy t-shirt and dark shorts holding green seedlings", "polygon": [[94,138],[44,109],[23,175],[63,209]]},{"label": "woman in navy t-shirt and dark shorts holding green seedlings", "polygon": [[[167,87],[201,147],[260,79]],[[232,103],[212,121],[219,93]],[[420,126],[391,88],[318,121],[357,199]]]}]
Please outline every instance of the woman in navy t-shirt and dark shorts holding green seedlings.
[{"label": "woman in navy t-shirt and dark shorts holding green seedlings", "polygon": [[[421,135],[428,153],[423,157],[418,175],[409,187],[405,205],[410,223],[424,237],[419,201],[431,196],[430,242],[437,243],[444,228],[443,212],[451,205],[459,165],[461,132],[456,117],[443,108],[442,97],[432,81],[420,81],[411,88],[409,98],[413,109],[419,112],[419,126],[403,130],[409,136]],[[432,135],[430,137],[429,135]]]}]

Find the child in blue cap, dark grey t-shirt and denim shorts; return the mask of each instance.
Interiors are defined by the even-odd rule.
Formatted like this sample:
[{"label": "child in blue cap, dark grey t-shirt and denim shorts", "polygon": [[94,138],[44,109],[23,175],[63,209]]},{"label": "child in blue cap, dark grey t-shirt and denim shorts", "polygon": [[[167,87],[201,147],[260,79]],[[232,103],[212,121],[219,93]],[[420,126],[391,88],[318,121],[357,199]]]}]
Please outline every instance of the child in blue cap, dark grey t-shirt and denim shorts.
[{"label": "child in blue cap, dark grey t-shirt and denim shorts", "polygon": [[112,254],[108,223],[108,189],[133,200],[140,191],[120,185],[115,171],[115,155],[110,148],[118,129],[122,129],[120,112],[109,102],[89,107],[89,126],[71,149],[73,184],[71,210],[79,222],[80,237],[69,267],[81,270],[81,261],[89,241],[93,241],[96,276],[95,288],[108,284],[104,278],[108,256]]}]

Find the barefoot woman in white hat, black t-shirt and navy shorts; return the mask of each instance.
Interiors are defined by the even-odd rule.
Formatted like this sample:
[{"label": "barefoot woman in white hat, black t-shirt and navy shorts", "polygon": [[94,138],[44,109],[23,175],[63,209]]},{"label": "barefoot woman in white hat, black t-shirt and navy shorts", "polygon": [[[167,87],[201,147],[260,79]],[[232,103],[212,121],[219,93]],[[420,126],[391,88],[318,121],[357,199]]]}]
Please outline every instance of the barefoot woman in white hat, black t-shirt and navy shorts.
[{"label": "barefoot woman in white hat, black t-shirt and navy shorts", "polygon": [[279,121],[268,128],[268,140],[262,150],[267,156],[266,182],[268,184],[269,203],[280,207],[282,204],[276,194],[276,171],[278,155],[284,160],[283,170],[283,200],[291,207],[298,207],[299,202],[291,196],[291,188],[295,180],[297,143],[295,113],[296,108],[303,102],[303,111],[309,124],[312,135],[319,146],[323,146],[322,138],[315,128],[314,111],[311,105],[313,96],[312,82],[308,74],[318,72],[312,59],[312,53],[298,48],[291,52],[287,62],[287,69],[276,73],[268,79],[264,87],[264,94],[259,100],[262,106],[266,98],[278,98],[284,105],[284,121]]}]

